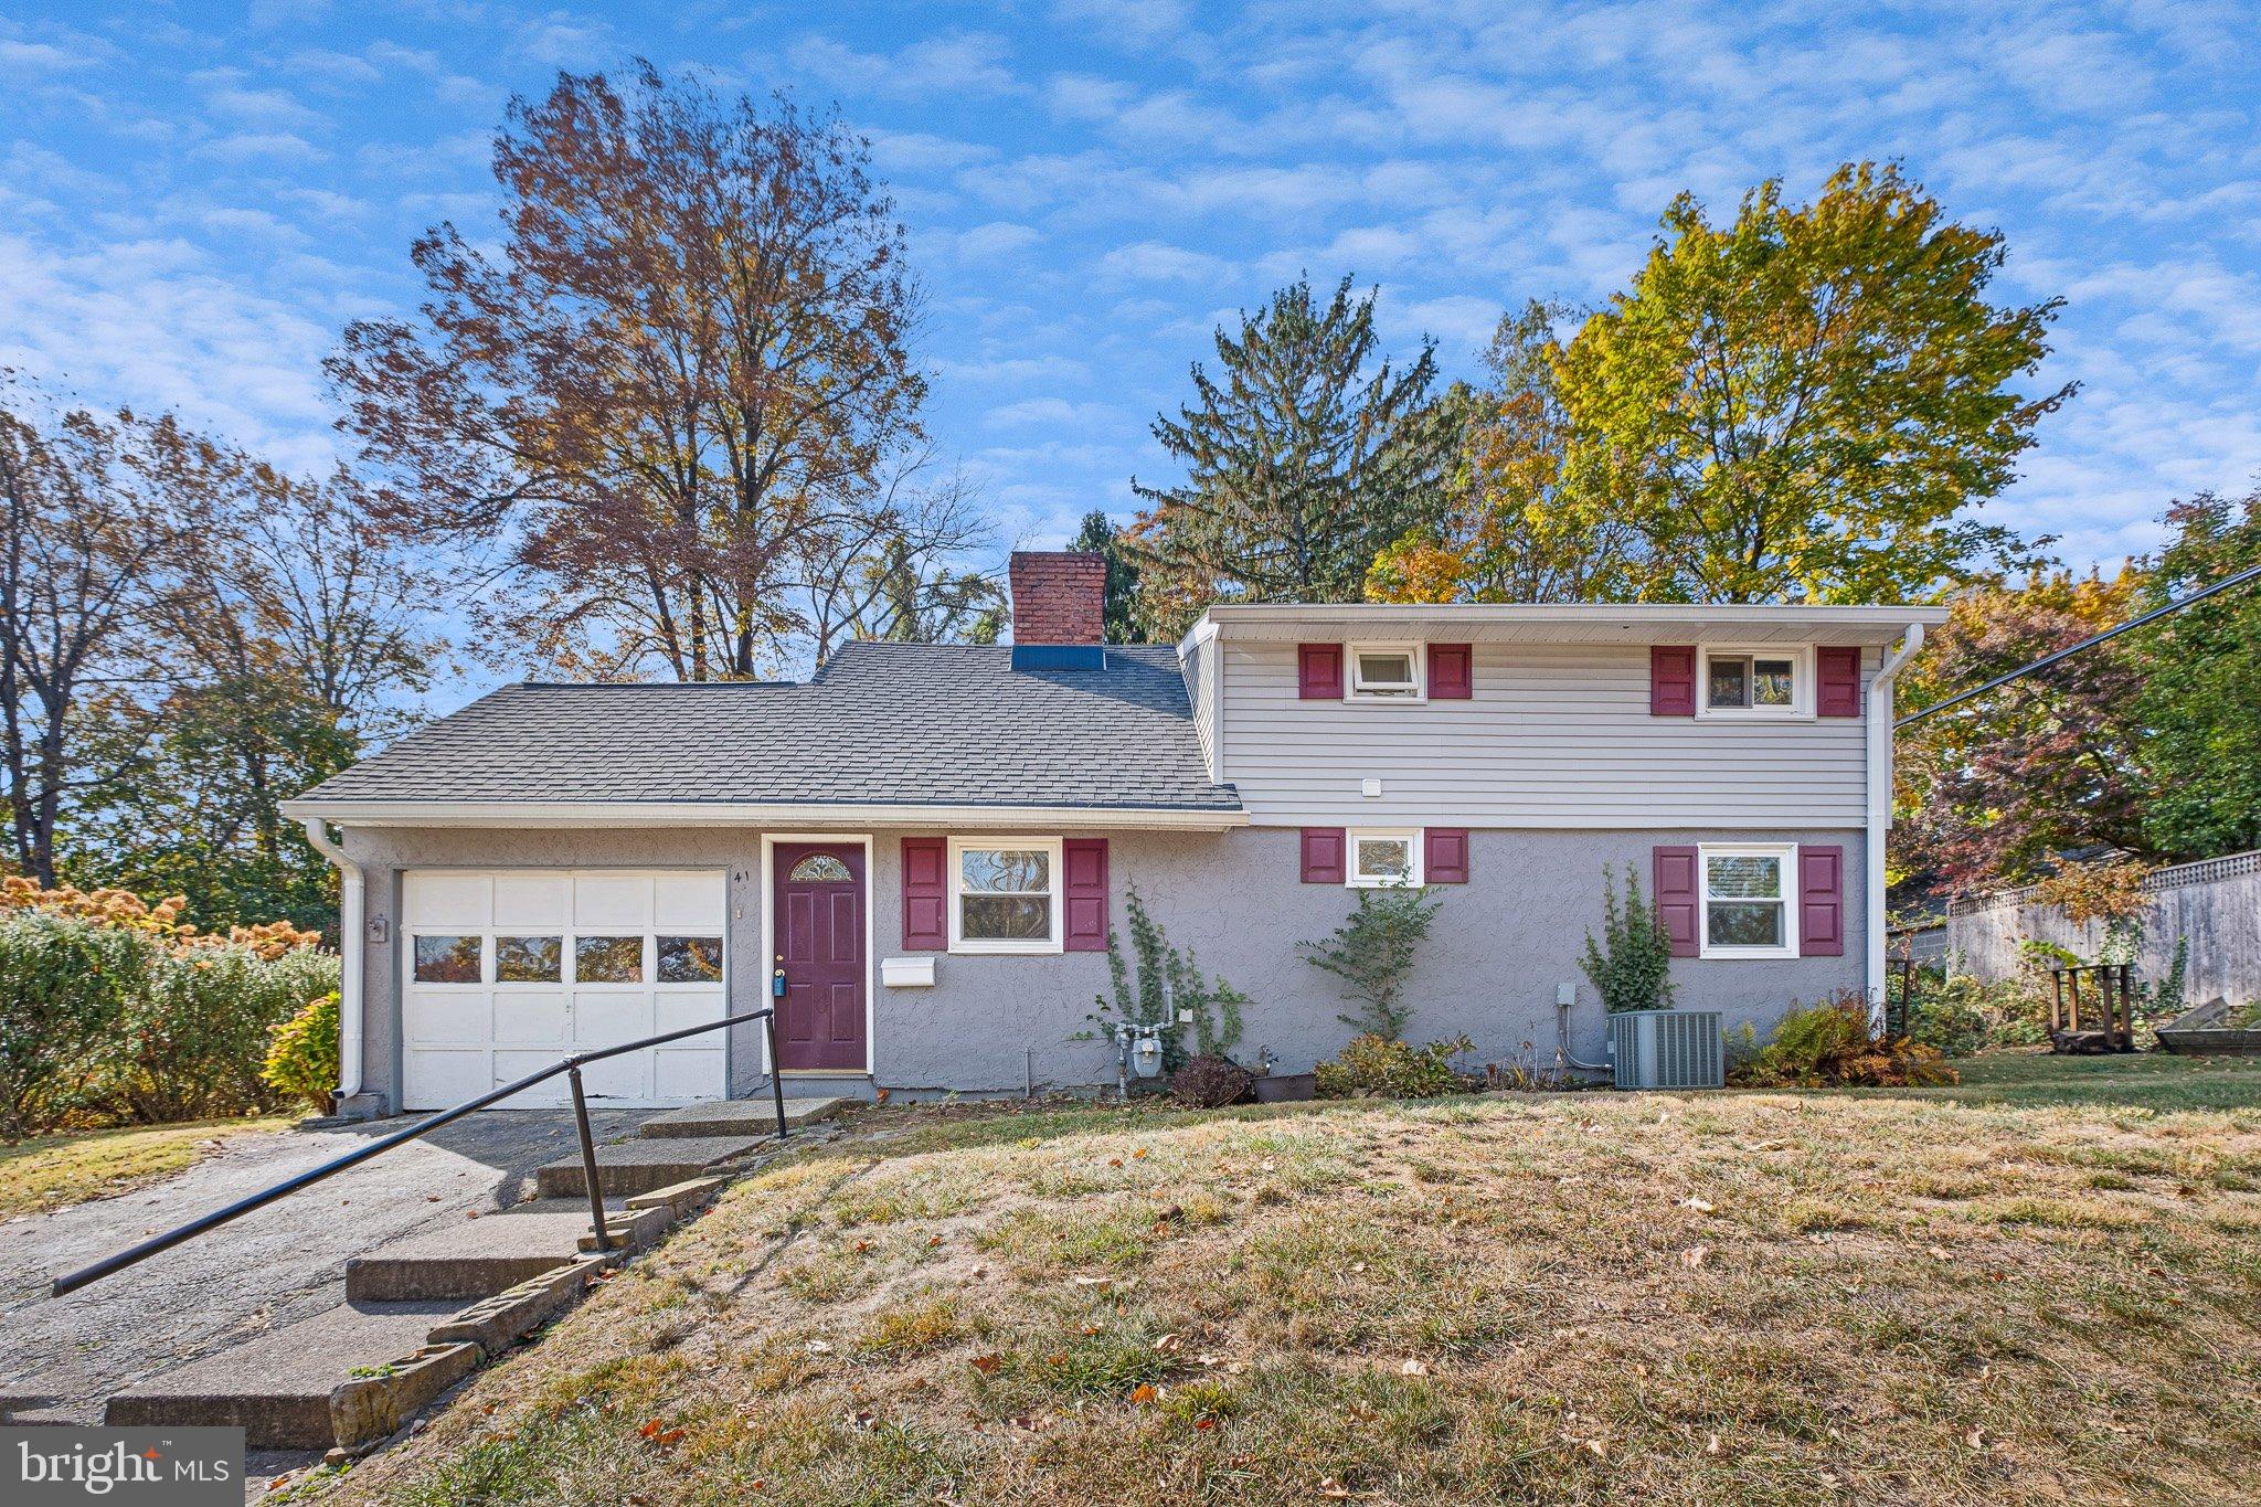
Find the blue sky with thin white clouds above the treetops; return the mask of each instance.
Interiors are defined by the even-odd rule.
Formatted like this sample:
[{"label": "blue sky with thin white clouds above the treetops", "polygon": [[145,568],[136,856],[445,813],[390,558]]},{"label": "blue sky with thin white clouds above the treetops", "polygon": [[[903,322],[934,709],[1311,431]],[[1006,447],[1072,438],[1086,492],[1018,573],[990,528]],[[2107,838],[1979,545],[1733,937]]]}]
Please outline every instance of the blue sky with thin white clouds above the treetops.
[{"label": "blue sky with thin white clouds above the treetops", "polygon": [[[1879,11],[1849,18],[1852,11]],[[2085,391],[1994,515],[2076,563],[2261,474],[2261,23],[2238,2],[556,7],[267,0],[0,16],[0,364],[332,454],[319,361],[486,235],[511,93],[629,56],[839,102],[929,294],[929,427],[999,542],[1130,474],[1212,325],[1309,271],[1452,375],[1504,307],[1603,298],[1657,212],[1904,158],[2062,296]]]}]

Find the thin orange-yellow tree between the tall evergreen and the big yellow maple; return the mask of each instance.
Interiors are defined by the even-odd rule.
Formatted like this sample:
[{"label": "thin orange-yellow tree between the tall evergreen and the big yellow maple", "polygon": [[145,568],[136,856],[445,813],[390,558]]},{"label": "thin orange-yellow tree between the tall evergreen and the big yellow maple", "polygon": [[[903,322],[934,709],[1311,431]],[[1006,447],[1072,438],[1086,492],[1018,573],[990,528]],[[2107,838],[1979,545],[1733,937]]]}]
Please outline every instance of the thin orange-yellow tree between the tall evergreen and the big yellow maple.
[{"label": "thin orange-yellow tree between the tall evergreen and the big yellow maple", "polygon": [[1470,418],[1449,502],[1384,549],[1366,574],[1370,601],[1623,601],[1635,533],[1565,490],[1569,413],[1556,364],[1567,310],[1506,314],[1485,350],[1490,382]]}]

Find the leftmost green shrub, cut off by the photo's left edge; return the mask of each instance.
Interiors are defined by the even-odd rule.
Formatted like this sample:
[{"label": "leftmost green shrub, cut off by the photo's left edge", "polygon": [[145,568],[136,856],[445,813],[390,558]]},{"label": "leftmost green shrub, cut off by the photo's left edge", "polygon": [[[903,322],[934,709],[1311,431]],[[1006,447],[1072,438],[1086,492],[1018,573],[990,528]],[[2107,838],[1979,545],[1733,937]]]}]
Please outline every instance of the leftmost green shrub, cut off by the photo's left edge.
[{"label": "leftmost green shrub, cut off by the photo's left edge", "polygon": [[50,1130],[88,1098],[86,1064],[147,990],[156,944],[47,911],[0,913],[0,1139]]}]

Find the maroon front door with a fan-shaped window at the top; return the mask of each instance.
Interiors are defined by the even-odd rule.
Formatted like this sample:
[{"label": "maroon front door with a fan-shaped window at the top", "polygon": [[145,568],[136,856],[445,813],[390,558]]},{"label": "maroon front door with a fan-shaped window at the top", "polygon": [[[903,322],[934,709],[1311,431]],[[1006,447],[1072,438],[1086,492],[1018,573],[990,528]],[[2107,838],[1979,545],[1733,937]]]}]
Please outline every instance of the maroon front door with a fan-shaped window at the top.
[{"label": "maroon front door with a fan-shaped window at the top", "polygon": [[846,1069],[864,1062],[864,847],[778,843],[778,1066]]}]

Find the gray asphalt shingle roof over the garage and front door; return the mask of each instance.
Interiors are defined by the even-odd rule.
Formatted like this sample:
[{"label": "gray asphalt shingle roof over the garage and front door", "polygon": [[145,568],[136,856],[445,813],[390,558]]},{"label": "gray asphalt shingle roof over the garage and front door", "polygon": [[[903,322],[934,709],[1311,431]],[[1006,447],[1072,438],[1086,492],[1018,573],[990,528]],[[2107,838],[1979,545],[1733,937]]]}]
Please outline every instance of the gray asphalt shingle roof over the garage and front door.
[{"label": "gray asphalt shingle roof over the garage and front door", "polygon": [[305,800],[1239,809],[1167,646],[1015,671],[1011,648],[868,642],[807,685],[509,685]]}]

